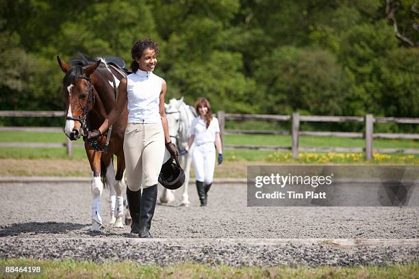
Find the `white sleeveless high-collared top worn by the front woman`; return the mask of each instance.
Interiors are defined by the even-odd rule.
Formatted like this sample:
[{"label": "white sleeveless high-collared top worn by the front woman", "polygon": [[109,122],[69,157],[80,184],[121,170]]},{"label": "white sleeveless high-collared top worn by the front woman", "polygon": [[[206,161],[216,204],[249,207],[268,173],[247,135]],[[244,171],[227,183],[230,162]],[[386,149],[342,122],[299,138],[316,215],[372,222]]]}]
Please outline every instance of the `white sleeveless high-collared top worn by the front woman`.
[{"label": "white sleeveless high-collared top worn by the front woman", "polygon": [[128,123],[160,123],[159,96],[163,79],[138,69],[127,75]]}]

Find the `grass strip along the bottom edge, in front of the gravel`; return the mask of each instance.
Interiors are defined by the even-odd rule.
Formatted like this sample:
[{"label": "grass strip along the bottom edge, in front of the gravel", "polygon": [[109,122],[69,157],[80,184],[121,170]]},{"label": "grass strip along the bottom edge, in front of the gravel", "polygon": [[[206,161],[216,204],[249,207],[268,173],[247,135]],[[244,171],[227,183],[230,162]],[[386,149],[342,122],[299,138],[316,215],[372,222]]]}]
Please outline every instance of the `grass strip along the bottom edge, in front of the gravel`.
[{"label": "grass strip along the bottom edge, in front of the gravel", "polygon": [[[417,278],[419,264],[358,267],[229,267],[182,263],[166,267],[138,263],[39,261],[29,258],[0,259],[3,278]],[[40,266],[39,275],[5,276],[5,266]]]}]

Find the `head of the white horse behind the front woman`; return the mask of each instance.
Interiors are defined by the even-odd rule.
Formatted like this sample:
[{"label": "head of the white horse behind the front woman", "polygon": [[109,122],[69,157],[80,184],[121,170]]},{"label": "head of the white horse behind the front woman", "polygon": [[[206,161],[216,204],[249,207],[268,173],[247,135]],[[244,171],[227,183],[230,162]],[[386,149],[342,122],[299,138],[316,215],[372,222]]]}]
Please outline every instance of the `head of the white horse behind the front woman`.
[{"label": "head of the white horse behind the front woman", "polygon": [[170,99],[168,104],[164,104],[164,111],[166,112],[169,135],[172,142],[180,149],[183,149],[186,146],[186,142],[188,142],[188,132],[190,124],[194,119],[194,114],[190,106],[183,102],[183,97],[179,100],[176,98]]}]

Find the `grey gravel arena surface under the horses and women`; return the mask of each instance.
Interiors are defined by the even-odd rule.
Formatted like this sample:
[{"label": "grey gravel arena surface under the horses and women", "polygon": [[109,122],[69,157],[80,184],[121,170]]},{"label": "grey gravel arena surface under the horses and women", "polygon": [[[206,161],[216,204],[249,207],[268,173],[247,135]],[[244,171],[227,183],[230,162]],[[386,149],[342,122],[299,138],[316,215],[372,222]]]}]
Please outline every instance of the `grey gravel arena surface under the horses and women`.
[{"label": "grey gravel arena surface under the horses and women", "polygon": [[[181,191],[175,193],[175,204],[157,204],[151,227],[155,239],[144,240],[129,238],[128,226],[107,225],[107,189],[102,196],[104,228],[98,234],[89,232],[89,184],[3,183],[0,187],[1,258],[260,267],[419,261],[419,207],[247,207],[246,185],[213,185],[208,206],[199,207],[191,181],[190,207],[177,205]],[[269,243],[270,239],[296,240],[279,245]],[[415,241],[413,245],[344,246],[298,239]]]}]

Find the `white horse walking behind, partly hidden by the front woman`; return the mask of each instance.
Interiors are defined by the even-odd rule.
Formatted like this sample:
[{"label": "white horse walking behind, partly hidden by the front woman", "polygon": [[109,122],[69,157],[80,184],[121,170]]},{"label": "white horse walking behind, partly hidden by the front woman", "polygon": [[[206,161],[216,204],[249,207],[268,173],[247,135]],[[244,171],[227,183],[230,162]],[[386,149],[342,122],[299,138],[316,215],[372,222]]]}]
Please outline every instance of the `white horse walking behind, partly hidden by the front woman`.
[{"label": "white horse walking behind, partly hidden by the front woman", "polygon": [[[173,98],[170,99],[168,105],[164,104],[164,111],[166,112],[168,128],[170,138],[172,142],[177,146],[178,150],[183,150],[188,143],[189,128],[192,120],[196,117],[196,111],[191,105],[186,105],[183,102],[183,97],[179,100]],[[179,157],[179,162],[185,171],[185,183],[183,183],[183,194],[181,205],[188,207],[189,196],[188,196],[188,185],[189,185],[189,171],[190,163],[192,162],[192,148],[185,155]],[[173,191],[164,188],[162,196],[160,196],[160,202],[166,204],[175,201],[175,195]]]}]

